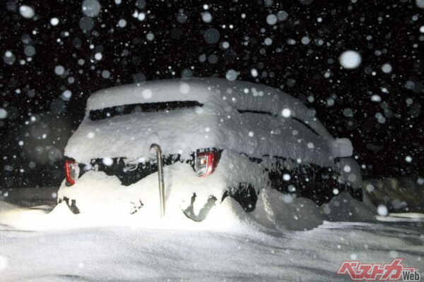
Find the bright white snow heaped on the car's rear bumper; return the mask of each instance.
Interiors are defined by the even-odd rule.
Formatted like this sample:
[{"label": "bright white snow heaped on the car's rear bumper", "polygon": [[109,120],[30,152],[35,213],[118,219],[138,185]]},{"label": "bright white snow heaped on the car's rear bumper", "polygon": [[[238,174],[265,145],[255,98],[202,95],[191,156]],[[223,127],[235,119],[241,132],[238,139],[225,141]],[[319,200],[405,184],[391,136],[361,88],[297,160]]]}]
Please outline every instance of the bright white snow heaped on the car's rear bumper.
[{"label": "bright white snow heaped on the car's rear bumper", "polygon": [[[191,204],[196,194],[194,212],[204,207],[210,197],[220,203],[227,185],[220,173],[197,177],[189,164],[165,166],[165,203],[167,217]],[[88,171],[70,187],[65,181],[58,192],[58,200],[76,201],[81,213],[90,214],[146,214],[158,216],[160,212],[158,173],[152,173],[133,185],[124,186],[116,176],[102,171]]]}]

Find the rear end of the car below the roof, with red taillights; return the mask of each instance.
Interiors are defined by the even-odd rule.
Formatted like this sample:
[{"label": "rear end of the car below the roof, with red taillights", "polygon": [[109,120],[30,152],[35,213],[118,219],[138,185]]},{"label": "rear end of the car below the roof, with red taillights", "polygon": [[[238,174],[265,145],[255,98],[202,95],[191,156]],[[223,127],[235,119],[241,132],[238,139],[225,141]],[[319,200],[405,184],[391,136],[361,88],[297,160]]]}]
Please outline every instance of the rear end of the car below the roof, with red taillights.
[{"label": "rear end of the car below the roof, with red taillights", "polygon": [[[202,195],[204,198],[197,202],[206,203],[215,197],[216,190],[199,190],[199,187],[210,184],[207,182],[212,178],[208,177],[219,166],[222,152],[215,146],[218,138],[216,132],[219,131],[215,130],[217,119],[215,111],[196,100],[143,102],[88,111],[66,146],[66,177],[59,190],[59,202],[66,202],[74,213],[78,213],[90,209],[90,205],[98,205],[105,197],[118,197],[114,192],[106,195],[106,183],[102,185],[102,192],[93,192],[93,180],[88,181],[87,178],[93,178],[93,173],[98,173],[102,178],[110,178],[113,187],[117,187],[115,180],[119,180],[119,198],[135,207],[125,209],[129,213],[138,212],[142,206],[146,207],[146,198],[150,197],[141,199],[141,190],[146,192],[151,189],[146,186],[155,185],[151,191],[158,194],[158,160],[154,152],[150,152],[151,144],[155,143],[162,149],[165,168],[172,167],[165,169],[167,188],[172,185],[172,189],[178,189],[175,188],[178,182],[184,185],[184,188],[179,188],[181,191],[191,191],[187,192],[187,205],[194,193],[196,197]],[[171,181],[170,178],[179,177],[177,174],[181,166],[184,167],[183,174],[190,180],[186,183]],[[156,176],[152,178],[152,175]],[[150,180],[146,182],[143,179]],[[222,195],[225,180],[219,176],[213,179],[218,183],[216,189],[222,190],[218,194]],[[129,192],[131,190],[139,192]],[[128,192],[131,197],[125,199]],[[107,204],[110,201],[105,202]]]}]

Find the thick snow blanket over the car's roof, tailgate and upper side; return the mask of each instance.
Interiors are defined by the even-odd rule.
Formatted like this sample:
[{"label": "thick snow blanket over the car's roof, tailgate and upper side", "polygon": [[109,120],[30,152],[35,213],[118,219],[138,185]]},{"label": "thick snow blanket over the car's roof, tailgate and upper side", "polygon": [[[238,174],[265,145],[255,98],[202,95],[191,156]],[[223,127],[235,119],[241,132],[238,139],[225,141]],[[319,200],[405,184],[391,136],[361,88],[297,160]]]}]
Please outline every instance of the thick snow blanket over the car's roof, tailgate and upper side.
[{"label": "thick snow blanket over the car's roof, tailgate and upper side", "polygon": [[[204,106],[102,121],[88,118],[90,110],[169,101],[197,101]],[[283,117],[283,109],[289,109],[290,117],[304,121],[319,136],[299,121]],[[237,110],[266,111],[278,118],[240,114]],[[86,118],[69,139],[65,155],[81,163],[103,157],[136,159],[146,157],[153,142],[162,147],[164,154],[180,152],[183,157],[196,149],[217,147],[252,157],[277,155],[322,166],[331,166],[334,157],[346,157],[352,152],[349,140],[332,137],[313,111],[284,92],[250,82],[194,78],[95,92],[88,99]]]}]

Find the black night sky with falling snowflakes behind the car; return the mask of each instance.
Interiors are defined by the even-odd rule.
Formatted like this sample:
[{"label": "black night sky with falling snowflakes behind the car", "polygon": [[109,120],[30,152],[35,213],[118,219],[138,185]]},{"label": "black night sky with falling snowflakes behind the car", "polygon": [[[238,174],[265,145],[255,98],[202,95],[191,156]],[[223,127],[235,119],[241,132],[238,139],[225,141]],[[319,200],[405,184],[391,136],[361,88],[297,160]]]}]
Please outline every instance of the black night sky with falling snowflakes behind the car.
[{"label": "black night sky with falling snowflakes behind the car", "polygon": [[[122,2],[100,0],[100,14],[87,17],[82,1],[1,1],[0,109],[7,116],[0,119],[0,188],[59,185],[64,146],[95,90],[225,78],[230,69],[316,109],[333,135],[352,140],[365,178],[423,176],[424,9],[416,0]],[[33,18],[20,15],[23,4],[34,8]],[[146,18],[134,18],[135,11]],[[202,20],[206,11],[211,23]],[[278,11],[287,18],[269,25],[266,17]],[[218,42],[206,42],[209,28],[218,30]],[[302,44],[305,36],[309,44]],[[360,53],[358,68],[338,62],[348,49]],[[382,71],[384,63],[391,73]]]}]

